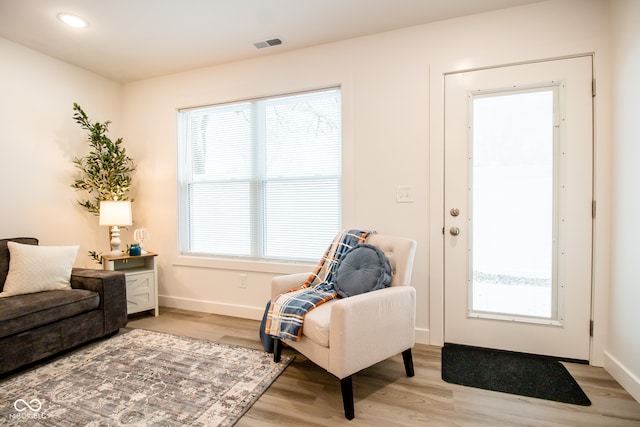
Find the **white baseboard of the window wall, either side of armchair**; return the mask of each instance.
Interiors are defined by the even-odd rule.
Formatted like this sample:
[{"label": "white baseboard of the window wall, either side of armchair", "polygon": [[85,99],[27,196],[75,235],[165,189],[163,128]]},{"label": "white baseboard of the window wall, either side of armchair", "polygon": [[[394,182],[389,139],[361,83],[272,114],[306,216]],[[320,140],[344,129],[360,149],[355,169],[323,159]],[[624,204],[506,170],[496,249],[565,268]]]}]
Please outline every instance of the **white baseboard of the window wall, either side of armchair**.
[{"label": "white baseboard of the window wall, either side of armchair", "polygon": [[[190,298],[158,296],[158,304],[162,307],[180,308],[182,310],[199,311],[201,313],[220,314],[222,316],[240,317],[242,319],[262,320],[264,308],[247,305],[220,304],[213,301],[202,301]],[[416,343],[429,344],[429,329],[416,328]]]}]

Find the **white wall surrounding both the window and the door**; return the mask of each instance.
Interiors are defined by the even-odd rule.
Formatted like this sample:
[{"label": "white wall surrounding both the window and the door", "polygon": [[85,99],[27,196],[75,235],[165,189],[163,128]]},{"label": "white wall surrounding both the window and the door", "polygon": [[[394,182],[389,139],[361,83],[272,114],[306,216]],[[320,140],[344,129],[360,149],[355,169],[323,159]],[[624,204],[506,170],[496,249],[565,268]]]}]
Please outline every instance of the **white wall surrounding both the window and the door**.
[{"label": "white wall surrounding both the window and the door", "polygon": [[[210,67],[124,87],[125,138],[135,141],[140,192],[136,215],[160,253],[161,302],[259,318],[269,279],[297,270],[176,256],[176,110],[340,84],[343,88],[346,226],[418,241],[413,285],[418,340],[443,336],[442,148],[444,72],[596,52],[604,94],[596,105],[596,323],[594,360],[602,357],[608,280],[608,3],[554,0]],[[410,185],[415,202],[395,203]],[[600,190],[605,189],[605,190]],[[247,289],[239,274],[247,273]],[[605,308],[602,308],[602,305]],[[600,329],[598,329],[600,328]],[[604,328],[604,329],[603,329]]]}]

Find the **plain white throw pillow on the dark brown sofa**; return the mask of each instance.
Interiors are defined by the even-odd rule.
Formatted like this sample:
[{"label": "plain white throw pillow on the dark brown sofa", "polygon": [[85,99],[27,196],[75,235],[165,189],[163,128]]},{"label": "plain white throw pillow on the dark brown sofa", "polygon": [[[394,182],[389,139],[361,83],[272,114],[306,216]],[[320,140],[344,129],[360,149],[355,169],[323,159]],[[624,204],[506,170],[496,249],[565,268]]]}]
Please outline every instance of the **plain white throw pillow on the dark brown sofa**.
[{"label": "plain white throw pillow on the dark brown sofa", "polygon": [[71,289],[79,246],[37,246],[8,242],[9,273],[0,297]]}]

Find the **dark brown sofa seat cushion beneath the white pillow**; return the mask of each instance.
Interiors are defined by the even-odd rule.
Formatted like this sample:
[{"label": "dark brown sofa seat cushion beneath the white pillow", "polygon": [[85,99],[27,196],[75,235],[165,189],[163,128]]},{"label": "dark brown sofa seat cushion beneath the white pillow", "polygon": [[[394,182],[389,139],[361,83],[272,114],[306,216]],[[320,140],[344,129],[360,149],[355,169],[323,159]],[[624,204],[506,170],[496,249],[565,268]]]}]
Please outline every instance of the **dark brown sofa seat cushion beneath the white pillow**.
[{"label": "dark brown sofa seat cushion beneath the white pillow", "polygon": [[0,298],[0,338],[98,308],[100,295],[84,289]]}]

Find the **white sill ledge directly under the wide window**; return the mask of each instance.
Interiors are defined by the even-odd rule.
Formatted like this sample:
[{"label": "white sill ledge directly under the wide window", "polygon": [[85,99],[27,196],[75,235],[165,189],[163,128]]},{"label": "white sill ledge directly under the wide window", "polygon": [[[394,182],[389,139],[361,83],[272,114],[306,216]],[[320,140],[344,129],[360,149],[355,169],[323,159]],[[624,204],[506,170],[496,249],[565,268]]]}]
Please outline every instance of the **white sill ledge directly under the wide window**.
[{"label": "white sill ledge directly under the wide window", "polygon": [[315,264],[294,262],[248,261],[226,258],[206,258],[177,255],[172,262],[180,267],[210,268],[215,270],[254,271],[258,273],[295,274],[311,272]]}]

